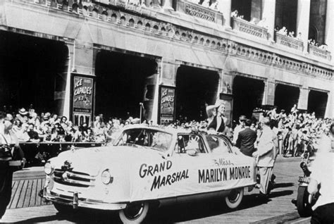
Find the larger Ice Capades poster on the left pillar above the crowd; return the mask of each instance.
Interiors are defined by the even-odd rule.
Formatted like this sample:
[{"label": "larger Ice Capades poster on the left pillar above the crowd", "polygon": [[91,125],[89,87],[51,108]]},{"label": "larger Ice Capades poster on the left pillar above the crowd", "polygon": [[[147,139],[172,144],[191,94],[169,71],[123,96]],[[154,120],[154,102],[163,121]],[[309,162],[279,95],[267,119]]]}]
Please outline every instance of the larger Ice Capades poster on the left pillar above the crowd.
[{"label": "larger Ice Capades poster on the left pillar above the crowd", "polygon": [[94,79],[85,75],[73,75],[72,108],[73,125],[92,122]]}]

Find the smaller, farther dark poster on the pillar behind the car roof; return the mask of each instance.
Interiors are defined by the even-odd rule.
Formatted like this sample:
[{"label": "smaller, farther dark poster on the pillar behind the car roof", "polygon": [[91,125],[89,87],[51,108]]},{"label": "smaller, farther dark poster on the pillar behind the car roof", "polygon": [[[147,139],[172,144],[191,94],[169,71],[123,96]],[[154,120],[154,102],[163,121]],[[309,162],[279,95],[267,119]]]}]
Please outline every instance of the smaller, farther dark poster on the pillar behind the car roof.
[{"label": "smaller, farther dark poster on the pillar behind the car roof", "polygon": [[175,119],[175,87],[159,86],[159,111],[160,125],[167,125]]}]

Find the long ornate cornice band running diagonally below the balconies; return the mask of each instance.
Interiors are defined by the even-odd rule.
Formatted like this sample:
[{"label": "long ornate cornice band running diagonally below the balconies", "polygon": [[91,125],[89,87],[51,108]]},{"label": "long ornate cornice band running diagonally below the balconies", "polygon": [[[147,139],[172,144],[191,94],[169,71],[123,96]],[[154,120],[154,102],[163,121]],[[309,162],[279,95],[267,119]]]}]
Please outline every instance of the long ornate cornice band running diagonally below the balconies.
[{"label": "long ornate cornice band running diagonally below the balconies", "polygon": [[[7,3],[22,4],[22,1],[11,0],[7,1]],[[27,4],[27,1],[25,4]],[[85,11],[78,11],[78,13],[74,13],[72,12],[72,8],[63,11],[61,7],[51,8],[52,10],[49,11],[50,7],[47,6],[47,4],[30,4],[37,5],[37,7],[44,6],[45,10],[47,10],[50,15],[51,13],[57,13],[57,11],[59,11],[65,16],[72,15],[82,20],[90,20],[92,23],[99,23],[99,25],[113,25],[124,29],[131,29],[132,32],[145,32],[145,34],[151,34],[155,37],[167,37],[168,39],[173,39],[174,41],[184,44],[200,46],[206,50],[219,51],[225,56],[242,57],[249,61],[256,61],[257,63],[269,66],[278,66],[286,70],[294,71],[295,73],[304,73],[315,78],[333,80],[333,70],[331,69],[242,44],[222,37],[223,35],[220,35],[219,32],[216,32],[216,35],[211,35],[206,32],[193,30],[196,26],[189,28],[159,20],[157,19],[159,13],[151,8],[144,8],[142,11],[138,12],[136,11],[137,8],[125,9],[94,4],[93,6],[97,9],[98,13],[93,14],[92,11],[87,13],[85,13]],[[107,15],[102,15],[103,13]],[[175,20],[178,20],[178,18],[175,18]],[[259,44],[254,45],[259,46]]]}]

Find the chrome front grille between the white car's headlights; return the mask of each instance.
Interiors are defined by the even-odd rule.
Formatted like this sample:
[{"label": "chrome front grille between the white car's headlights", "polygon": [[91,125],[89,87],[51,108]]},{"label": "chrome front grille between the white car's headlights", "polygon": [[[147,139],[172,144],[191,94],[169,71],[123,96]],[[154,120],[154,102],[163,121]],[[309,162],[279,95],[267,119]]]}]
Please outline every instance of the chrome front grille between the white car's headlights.
[{"label": "chrome front grille between the white car's headlights", "polygon": [[61,185],[68,185],[73,187],[90,187],[94,186],[95,178],[87,173],[80,173],[75,171],[54,170],[54,182]]}]

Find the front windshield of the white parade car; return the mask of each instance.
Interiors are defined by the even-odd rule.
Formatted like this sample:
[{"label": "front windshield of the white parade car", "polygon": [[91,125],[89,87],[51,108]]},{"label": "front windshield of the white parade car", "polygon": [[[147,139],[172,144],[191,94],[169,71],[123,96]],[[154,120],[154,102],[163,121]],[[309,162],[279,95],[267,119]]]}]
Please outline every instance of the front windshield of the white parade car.
[{"label": "front windshield of the white parade car", "polygon": [[159,130],[135,128],[124,130],[115,146],[132,145],[137,147],[151,147],[159,151],[167,151],[171,146],[172,135]]}]

